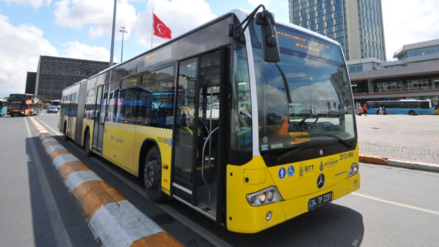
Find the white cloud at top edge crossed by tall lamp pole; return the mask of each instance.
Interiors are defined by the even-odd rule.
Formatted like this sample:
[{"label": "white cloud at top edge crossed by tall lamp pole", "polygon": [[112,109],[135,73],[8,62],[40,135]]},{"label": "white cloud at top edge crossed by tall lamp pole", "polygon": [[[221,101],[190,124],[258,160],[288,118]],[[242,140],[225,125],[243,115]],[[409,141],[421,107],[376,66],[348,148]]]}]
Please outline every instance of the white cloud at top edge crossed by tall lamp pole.
[{"label": "white cloud at top edge crossed by tall lamp pole", "polygon": [[[105,33],[111,35],[113,26],[113,0],[62,0],[54,3],[55,23],[70,29],[88,27],[88,37],[98,38]],[[128,0],[118,1],[116,6],[116,29],[125,26],[130,30],[136,20],[136,10]],[[129,38],[130,33],[126,34]],[[119,38],[116,35],[116,38]]]}]

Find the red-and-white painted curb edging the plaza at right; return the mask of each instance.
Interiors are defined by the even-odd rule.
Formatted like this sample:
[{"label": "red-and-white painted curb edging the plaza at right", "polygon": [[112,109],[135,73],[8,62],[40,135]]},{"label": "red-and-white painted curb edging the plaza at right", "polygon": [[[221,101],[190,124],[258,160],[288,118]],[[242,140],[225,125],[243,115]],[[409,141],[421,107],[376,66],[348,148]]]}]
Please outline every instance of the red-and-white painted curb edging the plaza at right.
[{"label": "red-and-white painted curb edging the plaza at right", "polygon": [[431,163],[417,162],[417,161],[406,161],[406,160],[392,159],[387,157],[378,157],[371,154],[360,154],[360,162],[439,173],[438,164],[431,164]]}]

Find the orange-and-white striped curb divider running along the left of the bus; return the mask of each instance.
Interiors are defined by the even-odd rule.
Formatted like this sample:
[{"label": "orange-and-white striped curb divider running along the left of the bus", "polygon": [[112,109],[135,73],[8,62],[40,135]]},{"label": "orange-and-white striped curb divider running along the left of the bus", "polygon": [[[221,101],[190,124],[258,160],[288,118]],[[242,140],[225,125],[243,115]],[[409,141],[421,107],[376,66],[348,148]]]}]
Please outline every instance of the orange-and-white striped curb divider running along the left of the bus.
[{"label": "orange-and-white striped curb divider running along the left of the bus", "polygon": [[52,164],[103,246],[183,246],[30,119]]}]

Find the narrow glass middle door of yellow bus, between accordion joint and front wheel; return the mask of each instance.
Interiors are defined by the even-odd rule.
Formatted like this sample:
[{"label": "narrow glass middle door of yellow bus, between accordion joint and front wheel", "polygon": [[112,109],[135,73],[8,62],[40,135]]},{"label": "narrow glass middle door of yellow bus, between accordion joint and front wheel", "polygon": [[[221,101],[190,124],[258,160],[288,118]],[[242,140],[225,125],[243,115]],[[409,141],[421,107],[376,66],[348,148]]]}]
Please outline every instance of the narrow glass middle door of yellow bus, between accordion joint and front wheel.
[{"label": "narrow glass middle door of yellow bus, between accordion joint and front wheel", "polygon": [[95,121],[93,128],[93,147],[92,150],[102,155],[102,141],[105,132],[105,114],[108,84],[98,87],[98,95],[95,104]]}]

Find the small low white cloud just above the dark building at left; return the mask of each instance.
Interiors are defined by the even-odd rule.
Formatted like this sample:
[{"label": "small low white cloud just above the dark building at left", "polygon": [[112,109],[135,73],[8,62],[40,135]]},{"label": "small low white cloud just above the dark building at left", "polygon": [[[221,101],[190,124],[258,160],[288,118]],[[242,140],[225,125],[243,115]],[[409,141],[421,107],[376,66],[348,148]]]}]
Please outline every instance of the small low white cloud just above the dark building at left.
[{"label": "small low white cloud just above the dark building at left", "polygon": [[[104,47],[91,47],[90,45],[81,44],[78,41],[68,42],[60,51],[61,56],[66,58],[78,58],[93,61],[109,61],[110,53]],[[114,58],[116,59],[116,58]]]}]

